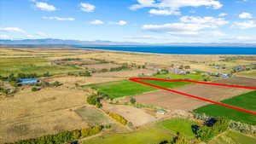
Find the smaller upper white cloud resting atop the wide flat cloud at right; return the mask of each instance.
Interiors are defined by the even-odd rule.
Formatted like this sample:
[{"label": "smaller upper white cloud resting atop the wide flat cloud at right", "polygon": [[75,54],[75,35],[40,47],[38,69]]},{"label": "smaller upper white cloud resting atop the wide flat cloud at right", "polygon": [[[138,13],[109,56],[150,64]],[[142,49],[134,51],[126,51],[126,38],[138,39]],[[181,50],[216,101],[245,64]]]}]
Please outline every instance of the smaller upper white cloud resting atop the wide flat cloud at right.
[{"label": "smaller upper white cloud resting atop the wide flat cloud at right", "polygon": [[212,27],[223,26],[229,23],[229,21],[223,18],[214,18],[211,16],[199,17],[199,16],[183,16],[180,18],[182,22],[197,23],[197,24],[207,24]]}]

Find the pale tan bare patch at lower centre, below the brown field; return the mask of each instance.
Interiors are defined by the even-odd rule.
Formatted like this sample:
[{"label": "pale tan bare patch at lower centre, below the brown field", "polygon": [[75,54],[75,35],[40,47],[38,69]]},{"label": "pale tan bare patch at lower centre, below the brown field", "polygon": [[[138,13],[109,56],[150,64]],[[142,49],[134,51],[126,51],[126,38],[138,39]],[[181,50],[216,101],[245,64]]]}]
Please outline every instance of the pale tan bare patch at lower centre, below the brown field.
[{"label": "pale tan bare patch at lower centre, below the brown field", "polygon": [[108,103],[104,103],[102,108],[106,111],[119,114],[120,116],[131,122],[134,126],[148,124],[156,120],[154,116],[148,114],[147,112],[144,112],[143,109],[139,109],[136,107],[124,105],[110,105]]}]

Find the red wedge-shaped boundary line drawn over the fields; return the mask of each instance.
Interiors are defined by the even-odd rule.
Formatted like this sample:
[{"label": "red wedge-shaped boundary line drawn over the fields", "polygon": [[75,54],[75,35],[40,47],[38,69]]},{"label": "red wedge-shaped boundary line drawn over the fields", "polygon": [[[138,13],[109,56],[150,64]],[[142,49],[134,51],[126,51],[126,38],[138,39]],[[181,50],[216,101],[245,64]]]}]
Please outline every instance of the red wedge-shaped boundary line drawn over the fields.
[{"label": "red wedge-shaped boundary line drawn over the fields", "polygon": [[233,106],[226,105],[226,104],[218,102],[218,101],[211,101],[211,100],[201,98],[201,97],[198,97],[198,96],[195,96],[195,95],[189,95],[189,94],[186,94],[186,93],[183,93],[183,92],[180,92],[180,91],[177,91],[177,90],[173,90],[173,89],[162,88],[160,86],[157,86],[157,85],[154,85],[154,84],[144,83],[144,82],[141,82],[141,81],[138,81],[138,80],[156,80],[156,81],[166,81],[166,82],[190,82],[190,83],[196,83],[196,84],[208,84],[208,85],[218,85],[218,86],[224,86],[224,87],[233,87],[233,88],[241,88],[241,89],[255,89],[256,90],[256,88],[253,88],[253,87],[244,87],[244,86],[230,85],[230,84],[205,83],[205,82],[199,82],[199,81],[194,81],[194,80],[183,80],[183,79],[167,80],[167,79],[160,79],[160,78],[129,78],[129,80],[132,81],[132,82],[145,84],[145,85],[157,88],[157,89],[164,89],[164,90],[171,91],[173,93],[177,93],[177,94],[180,94],[180,95],[186,95],[186,96],[189,96],[189,97],[201,100],[201,101],[211,102],[213,104],[217,104],[217,105],[220,105],[220,106],[223,106],[223,107],[229,107],[229,108],[241,111],[241,112],[247,112],[247,113],[251,113],[251,114],[256,115],[256,112],[247,111],[246,109],[242,109],[240,107],[233,107]]}]

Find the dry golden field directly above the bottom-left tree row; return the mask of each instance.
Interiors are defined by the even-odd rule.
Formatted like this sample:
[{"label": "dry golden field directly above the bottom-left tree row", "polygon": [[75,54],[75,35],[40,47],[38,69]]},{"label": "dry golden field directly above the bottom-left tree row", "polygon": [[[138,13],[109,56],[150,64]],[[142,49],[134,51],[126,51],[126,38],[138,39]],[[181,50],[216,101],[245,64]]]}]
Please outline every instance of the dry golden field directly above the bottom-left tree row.
[{"label": "dry golden field directly above the bottom-left tree row", "polygon": [[76,130],[88,126],[76,112],[59,110],[39,115],[1,121],[0,143],[25,140],[42,135],[56,134],[63,130]]}]

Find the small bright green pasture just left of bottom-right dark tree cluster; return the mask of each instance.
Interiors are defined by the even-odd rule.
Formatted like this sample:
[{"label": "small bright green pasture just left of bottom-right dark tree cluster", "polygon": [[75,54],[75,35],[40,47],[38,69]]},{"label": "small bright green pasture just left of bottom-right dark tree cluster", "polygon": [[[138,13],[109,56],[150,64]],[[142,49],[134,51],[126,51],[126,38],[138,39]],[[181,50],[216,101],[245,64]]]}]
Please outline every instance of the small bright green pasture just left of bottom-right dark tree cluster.
[{"label": "small bright green pasture just left of bottom-right dark tree cluster", "polygon": [[172,118],[158,123],[158,125],[175,132],[179,132],[188,138],[195,138],[195,134],[192,132],[191,125],[197,124],[194,121],[183,118]]}]

